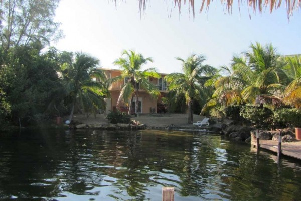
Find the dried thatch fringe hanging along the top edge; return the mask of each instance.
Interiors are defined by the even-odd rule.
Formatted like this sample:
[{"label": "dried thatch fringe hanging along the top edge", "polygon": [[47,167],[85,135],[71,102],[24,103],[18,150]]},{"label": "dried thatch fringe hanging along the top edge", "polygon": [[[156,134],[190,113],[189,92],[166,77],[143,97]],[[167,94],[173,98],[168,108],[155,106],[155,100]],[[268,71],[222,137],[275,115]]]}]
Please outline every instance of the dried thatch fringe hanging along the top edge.
[{"label": "dried thatch fringe hanging along the top edge", "polygon": [[[146,11],[146,4],[147,0],[138,0],[139,1],[139,12],[145,12]],[[156,0],[158,1],[158,0]],[[163,0],[167,2],[171,2],[174,7],[178,7],[179,12],[181,12],[181,5],[184,3],[184,5],[187,3],[189,5],[189,13],[192,11],[193,17],[195,17],[195,0]],[[232,13],[232,5],[233,0],[220,0],[222,5],[226,5],[226,9],[228,10],[228,13]],[[116,5],[116,0],[113,0]],[[150,0],[149,0],[150,2]],[[201,8],[200,13],[203,11],[204,7],[206,7],[206,10],[208,10],[209,5],[213,2],[213,0],[200,0],[201,2]],[[247,2],[247,5],[249,8],[253,10],[254,13],[259,11],[259,13],[262,13],[262,10],[264,8],[269,7],[270,13],[272,13],[274,10],[278,9],[281,6],[282,0],[237,0],[238,8],[240,10],[240,4]],[[287,18],[289,19],[293,12],[295,10],[298,10],[301,8],[301,0],[285,0],[286,5],[286,12],[287,12]]]}]

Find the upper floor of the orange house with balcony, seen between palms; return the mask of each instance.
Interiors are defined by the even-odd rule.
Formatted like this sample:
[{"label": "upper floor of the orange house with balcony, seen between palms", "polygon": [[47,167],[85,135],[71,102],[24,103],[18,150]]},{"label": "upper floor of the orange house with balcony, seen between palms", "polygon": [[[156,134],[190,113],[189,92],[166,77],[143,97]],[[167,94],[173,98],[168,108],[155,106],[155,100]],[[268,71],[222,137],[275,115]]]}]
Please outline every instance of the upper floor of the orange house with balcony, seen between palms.
[{"label": "upper floor of the orange house with balcony, seen between palms", "polygon": [[[117,70],[117,69],[102,68],[102,70],[106,74],[107,78],[113,78],[113,77],[117,77],[117,76],[121,75],[121,71]],[[159,73],[159,74],[161,75],[160,78],[148,77],[148,80],[150,83],[154,84],[160,92],[167,92],[168,85],[167,85],[167,82],[164,80],[164,77],[167,74],[162,74],[162,73]],[[128,79],[129,78],[125,78],[123,80],[112,83],[112,85],[109,87],[109,90],[110,91],[121,90],[122,87],[125,85],[125,83],[128,81]],[[140,89],[139,83],[135,84],[135,89],[136,88]]]}]

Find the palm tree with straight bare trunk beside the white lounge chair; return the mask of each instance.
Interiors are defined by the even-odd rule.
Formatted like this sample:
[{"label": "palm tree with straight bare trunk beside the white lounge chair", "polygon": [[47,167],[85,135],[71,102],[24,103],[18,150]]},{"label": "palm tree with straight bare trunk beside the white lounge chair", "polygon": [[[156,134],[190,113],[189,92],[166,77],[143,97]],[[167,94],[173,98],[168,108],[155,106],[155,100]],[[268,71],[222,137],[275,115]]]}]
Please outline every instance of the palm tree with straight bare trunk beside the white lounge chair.
[{"label": "palm tree with straight bare trunk beside the white lounge chair", "polygon": [[[206,60],[204,55],[192,54],[186,60],[177,57],[182,62],[183,73],[171,73],[165,77],[169,83],[169,90],[176,97],[184,95],[188,108],[188,123],[193,123],[193,101],[207,99],[208,90],[205,81],[215,74],[215,69],[209,65],[203,65]],[[208,75],[208,76],[206,76]]]}]

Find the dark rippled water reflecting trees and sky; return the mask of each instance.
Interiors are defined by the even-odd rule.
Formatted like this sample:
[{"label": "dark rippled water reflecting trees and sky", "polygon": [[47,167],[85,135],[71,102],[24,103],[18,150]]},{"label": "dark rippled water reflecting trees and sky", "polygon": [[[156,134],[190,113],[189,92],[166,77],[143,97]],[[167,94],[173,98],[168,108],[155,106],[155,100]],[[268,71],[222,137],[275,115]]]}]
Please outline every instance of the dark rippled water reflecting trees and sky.
[{"label": "dark rippled water reflecting trees and sky", "polygon": [[0,134],[0,200],[301,200],[301,165],[219,135]]}]

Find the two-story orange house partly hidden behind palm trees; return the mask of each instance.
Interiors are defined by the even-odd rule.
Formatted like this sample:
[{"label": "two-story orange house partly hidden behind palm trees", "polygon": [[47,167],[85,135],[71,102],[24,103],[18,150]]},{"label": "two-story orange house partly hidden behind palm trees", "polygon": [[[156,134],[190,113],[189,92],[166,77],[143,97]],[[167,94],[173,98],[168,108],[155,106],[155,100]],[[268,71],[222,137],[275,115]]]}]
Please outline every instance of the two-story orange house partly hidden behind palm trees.
[{"label": "two-story orange house partly hidden behind palm trees", "polygon": [[[113,78],[121,75],[120,70],[116,69],[105,69],[102,68],[102,70],[105,72],[106,76],[108,78]],[[160,73],[161,74],[161,73]],[[157,104],[161,103],[161,98],[165,97],[168,93],[167,91],[167,83],[164,80],[164,77],[167,74],[161,74],[161,78],[154,78],[154,77],[149,77],[149,82],[156,85],[160,91],[160,95],[158,96],[157,99],[153,99],[150,97],[146,91],[143,89],[139,89],[139,97],[138,97],[138,108],[136,109],[135,102],[136,98],[133,99],[133,103],[131,104],[131,113],[156,113],[157,112]],[[121,80],[119,82],[113,83],[109,91],[111,93],[111,98],[106,99],[106,113],[108,113],[110,110],[120,110],[123,112],[128,111],[129,103],[118,103],[117,100],[120,95],[120,91],[122,87],[124,86],[126,80]],[[139,87],[139,84],[137,84],[135,87]]]}]

